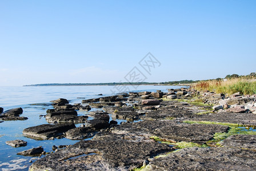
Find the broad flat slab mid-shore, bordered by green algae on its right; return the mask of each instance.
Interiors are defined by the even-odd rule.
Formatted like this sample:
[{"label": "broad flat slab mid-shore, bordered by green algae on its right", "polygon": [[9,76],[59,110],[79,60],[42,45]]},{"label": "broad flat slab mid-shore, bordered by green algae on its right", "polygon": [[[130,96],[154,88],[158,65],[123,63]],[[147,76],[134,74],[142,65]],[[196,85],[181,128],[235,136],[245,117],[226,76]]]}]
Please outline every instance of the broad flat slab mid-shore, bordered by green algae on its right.
[{"label": "broad flat slab mid-shore, bordered by green algae on its right", "polygon": [[118,125],[113,133],[158,136],[161,139],[203,144],[213,139],[217,132],[227,132],[229,127],[213,124],[186,124],[171,120],[141,121]]}]

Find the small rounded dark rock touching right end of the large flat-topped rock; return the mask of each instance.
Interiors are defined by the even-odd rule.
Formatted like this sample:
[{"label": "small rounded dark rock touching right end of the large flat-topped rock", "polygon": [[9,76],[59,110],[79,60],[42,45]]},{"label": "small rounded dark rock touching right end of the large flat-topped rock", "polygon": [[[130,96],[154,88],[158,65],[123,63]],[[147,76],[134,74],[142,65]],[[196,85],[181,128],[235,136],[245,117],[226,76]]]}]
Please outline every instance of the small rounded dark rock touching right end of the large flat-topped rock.
[{"label": "small rounded dark rock touching right end of the large flat-topped rock", "polygon": [[95,135],[95,131],[88,127],[78,127],[70,129],[65,133],[66,138],[70,140],[83,140]]}]

